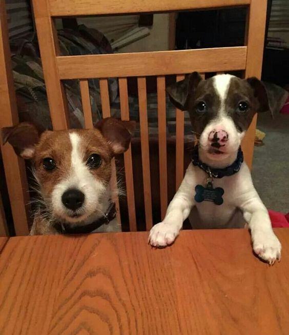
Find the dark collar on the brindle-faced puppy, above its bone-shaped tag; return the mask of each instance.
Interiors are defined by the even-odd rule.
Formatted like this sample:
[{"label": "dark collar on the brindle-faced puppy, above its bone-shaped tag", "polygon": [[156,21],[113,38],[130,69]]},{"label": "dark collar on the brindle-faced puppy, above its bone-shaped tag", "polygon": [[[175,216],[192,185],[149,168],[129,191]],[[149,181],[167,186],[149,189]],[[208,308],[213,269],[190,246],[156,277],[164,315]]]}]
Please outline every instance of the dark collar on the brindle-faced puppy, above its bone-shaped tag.
[{"label": "dark collar on the brindle-faced puppy, above its bone-shaped tag", "polygon": [[235,173],[239,172],[239,170],[241,169],[241,165],[243,161],[244,161],[244,156],[243,156],[243,152],[240,147],[238,150],[237,158],[233,164],[227,166],[224,169],[213,169],[209,165],[199,160],[198,145],[196,145],[192,151],[193,165],[199,166],[200,169],[208,173],[208,175],[213,178],[223,178],[223,177],[229,177],[229,176],[234,175]]}]

